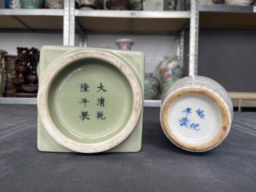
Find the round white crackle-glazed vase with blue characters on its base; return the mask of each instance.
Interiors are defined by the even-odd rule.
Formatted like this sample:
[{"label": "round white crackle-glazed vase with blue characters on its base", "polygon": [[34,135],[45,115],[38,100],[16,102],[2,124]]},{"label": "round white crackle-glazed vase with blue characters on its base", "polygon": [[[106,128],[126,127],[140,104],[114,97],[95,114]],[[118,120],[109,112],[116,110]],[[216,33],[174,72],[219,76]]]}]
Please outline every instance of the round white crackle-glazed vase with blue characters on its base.
[{"label": "round white crackle-glazed vase with blue characters on its base", "polygon": [[160,122],[165,135],[186,151],[209,151],[231,128],[233,104],[225,88],[204,76],[174,83],[162,98]]}]

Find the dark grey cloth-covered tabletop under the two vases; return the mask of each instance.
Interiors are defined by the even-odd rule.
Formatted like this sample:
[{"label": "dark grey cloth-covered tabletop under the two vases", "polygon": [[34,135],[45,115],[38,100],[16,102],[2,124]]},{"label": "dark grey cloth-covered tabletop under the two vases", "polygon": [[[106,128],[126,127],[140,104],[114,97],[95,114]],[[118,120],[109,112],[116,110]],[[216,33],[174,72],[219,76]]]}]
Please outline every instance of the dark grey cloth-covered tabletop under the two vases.
[{"label": "dark grey cloth-covered tabletop under the two vases", "polygon": [[256,113],[235,112],[223,143],[203,153],[174,146],[144,109],[138,153],[38,151],[36,105],[0,105],[0,191],[256,191]]}]

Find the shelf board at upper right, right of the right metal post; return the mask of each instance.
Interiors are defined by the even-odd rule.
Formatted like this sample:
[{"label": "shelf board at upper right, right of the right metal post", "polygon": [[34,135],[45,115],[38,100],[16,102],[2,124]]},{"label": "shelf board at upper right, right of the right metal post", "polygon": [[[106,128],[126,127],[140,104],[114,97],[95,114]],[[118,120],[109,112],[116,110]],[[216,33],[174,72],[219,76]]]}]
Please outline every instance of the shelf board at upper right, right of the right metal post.
[{"label": "shelf board at upper right, right of the right metal post", "polygon": [[199,28],[256,29],[253,6],[199,5]]}]

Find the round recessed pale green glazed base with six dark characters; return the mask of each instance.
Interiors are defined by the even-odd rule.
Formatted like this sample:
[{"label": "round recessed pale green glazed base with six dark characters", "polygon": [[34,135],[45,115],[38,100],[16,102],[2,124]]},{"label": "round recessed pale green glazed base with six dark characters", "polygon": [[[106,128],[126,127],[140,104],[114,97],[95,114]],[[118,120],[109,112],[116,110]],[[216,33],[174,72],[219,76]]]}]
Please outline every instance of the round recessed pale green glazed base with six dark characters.
[{"label": "round recessed pale green glazed base with six dark characters", "polygon": [[[81,92],[80,85],[85,83],[88,91]],[[100,83],[104,91],[98,88]],[[79,142],[100,142],[111,138],[128,122],[132,97],[128,81],[115,67],[81,61],[55,78],[49,93],[49,111],[67,137]],[[83,117],[81,112],[88,116]]]}]

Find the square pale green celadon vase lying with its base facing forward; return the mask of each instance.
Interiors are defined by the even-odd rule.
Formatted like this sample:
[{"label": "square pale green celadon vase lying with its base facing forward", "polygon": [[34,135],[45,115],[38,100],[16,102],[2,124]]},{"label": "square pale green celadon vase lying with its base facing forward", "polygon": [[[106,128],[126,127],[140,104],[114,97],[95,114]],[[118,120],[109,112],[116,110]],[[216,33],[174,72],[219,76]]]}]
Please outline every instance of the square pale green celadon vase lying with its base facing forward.
[{"label": "square pale green celadon vase lying with its base facing forward", "polygon": [[144,58],[139,51],[43,46],[39,151],[140,151]]}]

